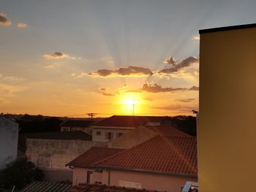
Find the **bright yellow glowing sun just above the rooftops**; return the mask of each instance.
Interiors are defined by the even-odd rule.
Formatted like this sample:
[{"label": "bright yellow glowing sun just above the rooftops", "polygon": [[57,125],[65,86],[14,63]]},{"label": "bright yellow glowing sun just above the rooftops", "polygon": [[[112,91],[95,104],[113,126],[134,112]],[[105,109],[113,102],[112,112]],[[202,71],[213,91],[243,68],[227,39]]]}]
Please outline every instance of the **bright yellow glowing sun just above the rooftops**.
[{"label": "bright yellow glowing sun just above the rooftops", "polygon": [[143,99],[139,93],[126,93],[118,99],[120,110],[124,114],[138,115],[142,110]]}]

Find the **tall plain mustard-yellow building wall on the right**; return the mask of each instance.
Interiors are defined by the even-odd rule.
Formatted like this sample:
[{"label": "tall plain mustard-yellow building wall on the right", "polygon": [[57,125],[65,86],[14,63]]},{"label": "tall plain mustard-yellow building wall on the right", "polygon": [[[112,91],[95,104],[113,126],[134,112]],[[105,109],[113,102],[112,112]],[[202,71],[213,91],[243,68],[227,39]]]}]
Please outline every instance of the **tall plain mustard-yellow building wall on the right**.
[{"label": "tall plain mustard-yellow building wall on the right", "polygon": [[200,33],[200,191],[256,191],[256,25]]}]

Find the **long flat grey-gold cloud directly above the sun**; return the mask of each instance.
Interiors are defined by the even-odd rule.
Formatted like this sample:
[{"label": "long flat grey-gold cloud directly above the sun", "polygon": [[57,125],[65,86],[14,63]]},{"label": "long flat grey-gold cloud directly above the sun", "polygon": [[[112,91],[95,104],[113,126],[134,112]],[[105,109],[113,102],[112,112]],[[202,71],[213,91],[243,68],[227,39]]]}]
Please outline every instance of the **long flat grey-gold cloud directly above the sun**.
[{"label": "long flat grey-gold cloud directly above the sun", "polygon": [[151,69],[140,66],[128,66],[127,68],[118,68],[116,70],[99,69],[97,72],[90,72],[89,75],[96,77],[121,77],[121,76],[146,76],[152,75]]}]

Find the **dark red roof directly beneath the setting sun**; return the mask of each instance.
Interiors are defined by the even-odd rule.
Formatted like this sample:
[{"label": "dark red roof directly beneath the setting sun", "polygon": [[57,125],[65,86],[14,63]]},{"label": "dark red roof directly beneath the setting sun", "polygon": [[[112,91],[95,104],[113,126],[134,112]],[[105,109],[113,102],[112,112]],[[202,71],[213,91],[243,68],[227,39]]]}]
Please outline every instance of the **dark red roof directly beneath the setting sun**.
[{"label": "dark red roof directly beneath the setting sun", "polygon": [[161,123],[167,117],[157,116],[136,116],[136,115],[113,115],[110,118],[94,123],[93,126],[117,126],[117,127],[136,127],[146,122]]}]

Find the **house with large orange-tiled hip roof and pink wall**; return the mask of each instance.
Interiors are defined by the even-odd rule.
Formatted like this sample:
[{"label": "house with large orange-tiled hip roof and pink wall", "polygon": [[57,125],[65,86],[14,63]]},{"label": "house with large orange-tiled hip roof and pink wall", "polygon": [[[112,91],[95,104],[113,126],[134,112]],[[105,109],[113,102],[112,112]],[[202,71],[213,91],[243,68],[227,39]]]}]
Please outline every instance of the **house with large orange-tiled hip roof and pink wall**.
[{"label": "house with large orange-tiled hip roof and pink wall", "polygon": [[177,192],[197,182],[197,139],[157,136],[94,163],[102,184]]}]

